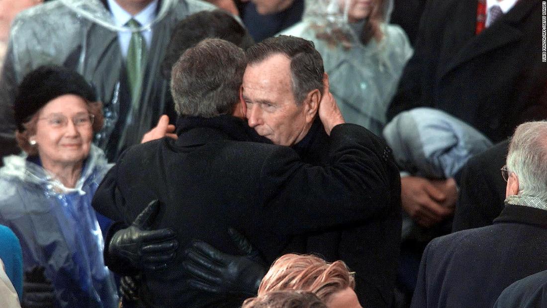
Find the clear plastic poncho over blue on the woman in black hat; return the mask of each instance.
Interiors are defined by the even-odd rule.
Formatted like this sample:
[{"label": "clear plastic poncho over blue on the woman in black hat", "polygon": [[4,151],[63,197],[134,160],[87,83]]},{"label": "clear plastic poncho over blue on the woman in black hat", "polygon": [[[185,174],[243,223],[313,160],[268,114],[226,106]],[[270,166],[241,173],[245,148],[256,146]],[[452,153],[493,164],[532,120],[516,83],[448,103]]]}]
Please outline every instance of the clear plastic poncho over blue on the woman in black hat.
[{"label": "clear plastic poncho over blue on the woman in black hat", "polygon": [[0,224],[19,237],[23,266],[42,266],[56,307],[118,305],[117,287],[103,261],[103,237],[91,199],[110,167],[91,147],[75,188],[66,188],[23,154],[0,169]]}]

